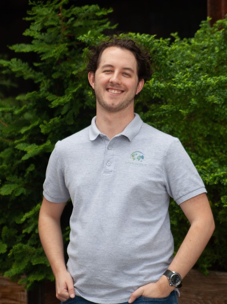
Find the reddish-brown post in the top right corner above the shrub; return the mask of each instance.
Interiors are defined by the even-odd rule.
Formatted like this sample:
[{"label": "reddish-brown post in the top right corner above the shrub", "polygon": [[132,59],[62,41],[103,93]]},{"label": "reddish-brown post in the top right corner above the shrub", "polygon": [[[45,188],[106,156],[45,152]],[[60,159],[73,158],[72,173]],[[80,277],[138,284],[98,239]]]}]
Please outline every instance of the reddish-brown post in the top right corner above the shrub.
[{"label": "reddish-brown post in the top right corner above the shrub", "polygon": [[227,0],[207,0],[207,16],[211,17],[211,25],[227,14]]}]

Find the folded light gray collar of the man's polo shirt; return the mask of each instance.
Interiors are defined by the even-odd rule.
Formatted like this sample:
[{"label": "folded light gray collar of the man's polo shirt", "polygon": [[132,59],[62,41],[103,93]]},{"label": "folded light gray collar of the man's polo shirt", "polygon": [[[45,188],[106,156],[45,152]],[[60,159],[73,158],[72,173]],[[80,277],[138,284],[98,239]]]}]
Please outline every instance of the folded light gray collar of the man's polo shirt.
[{"label": "folded light gray collar of the man's polo shirt", "polygon": [[[141,126],[142,126],[142,119],[139,117],[138,114],[134,113],[135,117],[132,119],[132,121],[125,127],[125,129],[119,134],[124,135],[128,137],[128,139],[131,141],[133,137],[135,137]],[[98,130],[96,124],[95,124],[96,116],[92,118],[91,120],[91,126],[89,127],[89,139],[95,140],[98,135],[101,134],[101,132]]]}]

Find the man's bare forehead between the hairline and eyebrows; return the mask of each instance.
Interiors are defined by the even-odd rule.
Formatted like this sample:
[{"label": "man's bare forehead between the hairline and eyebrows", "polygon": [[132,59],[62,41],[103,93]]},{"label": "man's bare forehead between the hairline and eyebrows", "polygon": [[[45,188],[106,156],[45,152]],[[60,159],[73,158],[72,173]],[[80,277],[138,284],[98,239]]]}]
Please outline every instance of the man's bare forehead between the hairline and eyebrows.
[{"label": "man's bare forehead between the hairline and eyebrows", "polygon": [[113,66],[130,67],[137,70],[137,62],[135,55],[126,49],[119,47],[106,48],[99,59],[98,68],[104,64],[111,64]]}]

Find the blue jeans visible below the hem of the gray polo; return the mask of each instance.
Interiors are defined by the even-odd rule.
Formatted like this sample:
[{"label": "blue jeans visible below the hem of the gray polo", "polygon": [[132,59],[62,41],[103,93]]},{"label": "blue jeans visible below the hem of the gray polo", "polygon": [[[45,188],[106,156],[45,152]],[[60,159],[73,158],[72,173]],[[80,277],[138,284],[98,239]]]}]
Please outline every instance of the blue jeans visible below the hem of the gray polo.
[{"label": "blue jeans visible below the hem of the gray polo", "polygon": [[[76,295],[75,298],[73,299],[69,298],[64,302],[61,302],[61,304],[94,304],[94,302],[85,300],[84,298],[78,297]],[[129,303],[125,302],[121,304],[129,304]],[[177,293],[174,290],[173,292],[170,293],[170,295],[167,298],[146,298],[141,295],[132,304],[178,304]]]}]

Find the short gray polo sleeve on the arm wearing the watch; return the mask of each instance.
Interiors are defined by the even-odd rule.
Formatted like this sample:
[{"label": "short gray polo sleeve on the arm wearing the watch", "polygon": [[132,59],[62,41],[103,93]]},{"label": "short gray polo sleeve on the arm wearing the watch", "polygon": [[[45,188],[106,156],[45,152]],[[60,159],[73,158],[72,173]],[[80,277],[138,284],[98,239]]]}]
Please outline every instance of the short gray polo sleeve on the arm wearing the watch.
[{"label": "short gray polo sleeve on the arm wearing the watch", "polygon": [[163,159],[163,178],[168,194],[177,204],[206,193],[198,171],[177,138],[166,150]]}]

